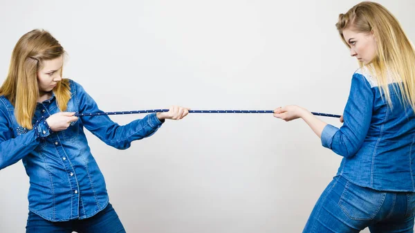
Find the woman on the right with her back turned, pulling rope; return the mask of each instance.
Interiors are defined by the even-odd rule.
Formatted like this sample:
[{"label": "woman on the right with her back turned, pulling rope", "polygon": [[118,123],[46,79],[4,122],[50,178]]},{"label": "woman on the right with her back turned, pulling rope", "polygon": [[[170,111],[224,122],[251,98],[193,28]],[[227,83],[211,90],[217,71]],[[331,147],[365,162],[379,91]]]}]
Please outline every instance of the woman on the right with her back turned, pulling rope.
[{"label": "woman on the right with her back turned, pulling rope", "polygon": [[[302,118],[322,145],[343,156],[304,232],[414,232],[415,51],[398,20],[364,1],[340,14],[340,37],[358,59],[340,129],[289,105],[275,117]],[[343,122],[343,119],[341,119]]]}]

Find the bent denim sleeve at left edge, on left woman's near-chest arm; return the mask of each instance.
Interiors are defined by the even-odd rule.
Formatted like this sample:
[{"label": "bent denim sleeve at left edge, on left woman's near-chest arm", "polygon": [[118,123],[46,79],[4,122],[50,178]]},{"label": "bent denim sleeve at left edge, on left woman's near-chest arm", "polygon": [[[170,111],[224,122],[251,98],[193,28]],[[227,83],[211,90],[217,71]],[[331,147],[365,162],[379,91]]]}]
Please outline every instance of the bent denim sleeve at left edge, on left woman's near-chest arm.
[{"label": "bent denim sleeve at left edge, on left woman's near-chest arm", "polygon": [[0,104],[0,170],[19,162],[39,145],[41,138],[50,134],[45,119],[42,119],[32,130],[13,138],[7,114],[7,109]]}]

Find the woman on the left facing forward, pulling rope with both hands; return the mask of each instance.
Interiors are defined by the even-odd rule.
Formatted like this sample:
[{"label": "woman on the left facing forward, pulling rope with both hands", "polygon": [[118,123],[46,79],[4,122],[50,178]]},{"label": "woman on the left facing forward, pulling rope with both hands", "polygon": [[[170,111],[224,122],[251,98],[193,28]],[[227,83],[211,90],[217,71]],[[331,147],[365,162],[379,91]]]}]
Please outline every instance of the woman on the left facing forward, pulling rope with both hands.
[{"label": "woman on the left facing forward, pulling rope with both hands", "polygon": [[146,115],[120,126],[77,82],[62,78],[64,48],[44,30],[23,35],[0,87],[0,169],[22,160],[30,178],[26,232],[125,232],[84,128],[117,149],[155,133],[189,109]]}]

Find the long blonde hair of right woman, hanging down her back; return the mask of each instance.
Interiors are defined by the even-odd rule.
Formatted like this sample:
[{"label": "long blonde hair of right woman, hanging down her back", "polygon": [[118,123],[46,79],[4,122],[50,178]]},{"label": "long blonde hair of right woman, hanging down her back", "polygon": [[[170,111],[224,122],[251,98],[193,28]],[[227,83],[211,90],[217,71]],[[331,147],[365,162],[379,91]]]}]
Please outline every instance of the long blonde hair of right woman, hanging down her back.
[{"label": "long blonde hair of right woman, hanging down her back", "polygon": [[[391,104],[389,82],[398,84],[401,101],[409,103],[415,111],[415,50],[398,20],[379,3],[363,1],[346,14],[340,14],[335,24],[344,44],[343,30],[374,33],[376,56],[367,64],[368,70],[378,81],[381,93]],[[350,48],[350,46],[349,46]],[[359,62],[360,67],[365,66]],[[396,90],[394,90],[396,91]]]}]

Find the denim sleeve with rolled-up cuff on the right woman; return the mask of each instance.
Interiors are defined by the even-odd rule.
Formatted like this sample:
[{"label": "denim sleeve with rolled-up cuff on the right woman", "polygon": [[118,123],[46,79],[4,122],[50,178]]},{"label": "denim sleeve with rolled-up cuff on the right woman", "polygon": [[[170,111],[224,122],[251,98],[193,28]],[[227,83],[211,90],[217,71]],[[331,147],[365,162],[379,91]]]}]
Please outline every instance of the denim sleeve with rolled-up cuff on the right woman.
[{"label": "denim sleeve with rolled-up cuff on the right woman", "polygon": [[323,147],[344,157],[352,157],[362,146],[369,131],[374,92],[365,76],[355,73],[351,80],[349,99],[344,108],[344,124],[340,129],[327,124],[322,131]]}]

